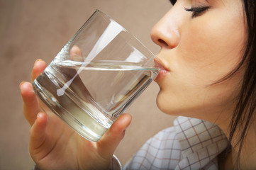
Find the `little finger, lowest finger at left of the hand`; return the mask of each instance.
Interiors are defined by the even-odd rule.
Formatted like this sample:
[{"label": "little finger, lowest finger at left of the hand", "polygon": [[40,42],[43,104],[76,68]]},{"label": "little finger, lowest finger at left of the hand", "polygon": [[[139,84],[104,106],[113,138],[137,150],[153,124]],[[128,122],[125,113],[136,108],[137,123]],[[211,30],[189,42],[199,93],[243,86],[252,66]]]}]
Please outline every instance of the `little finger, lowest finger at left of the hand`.
[{"label": "little finger, lowest finger at left of the hand", "polygon": [[47,125],[48,118],[46,113],[38,113],[35,123],[30,129],[29,147],[31,155],[38,153],[38,149],[40,149],[40,146],[43,146],[46,137],[45,130]]}]

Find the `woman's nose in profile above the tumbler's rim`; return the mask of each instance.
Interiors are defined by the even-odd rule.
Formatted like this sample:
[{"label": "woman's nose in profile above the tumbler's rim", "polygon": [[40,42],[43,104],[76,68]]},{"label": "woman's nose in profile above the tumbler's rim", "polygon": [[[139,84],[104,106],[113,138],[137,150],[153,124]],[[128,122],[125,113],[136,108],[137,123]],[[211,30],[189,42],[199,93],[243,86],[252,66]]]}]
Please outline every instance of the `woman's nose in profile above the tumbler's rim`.
[{"label": "woman's nose in profile above the tumbler's rim", "polygon": [[151,30],[151,39],[161,48],[172,49],[179,44],[179,30],[175,19],[177,18],[174,18],[170,10]]}]

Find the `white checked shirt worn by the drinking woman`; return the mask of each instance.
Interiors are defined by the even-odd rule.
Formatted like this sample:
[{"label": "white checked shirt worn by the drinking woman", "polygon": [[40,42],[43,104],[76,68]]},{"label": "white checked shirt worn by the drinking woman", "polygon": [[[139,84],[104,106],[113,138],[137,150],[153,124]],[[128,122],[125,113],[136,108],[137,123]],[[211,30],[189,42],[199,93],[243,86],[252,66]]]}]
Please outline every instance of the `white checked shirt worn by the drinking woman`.
[{"label": "white checked shirt worn by the drinking woman", "polygon": [[123,169],[218,169],[218,154],[228,146],[213,123],[178,117],[174,127],[150,138]]}]

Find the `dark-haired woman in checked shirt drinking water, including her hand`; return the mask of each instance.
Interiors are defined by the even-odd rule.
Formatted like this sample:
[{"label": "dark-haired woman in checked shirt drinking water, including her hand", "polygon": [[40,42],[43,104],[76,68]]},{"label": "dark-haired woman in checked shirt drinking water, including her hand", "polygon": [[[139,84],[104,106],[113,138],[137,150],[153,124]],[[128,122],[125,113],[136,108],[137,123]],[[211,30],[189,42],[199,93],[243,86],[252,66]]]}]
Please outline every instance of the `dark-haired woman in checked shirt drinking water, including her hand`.
[{"label": "dark-haired woman in checked shirt drinking water, including her hand", "polygon": [[[184,117],[177,118],[175,128],[150,139],[126,168],[256,169],[255,1],[171,2],[174,6],[151,33],[165,67],[155,80],[160,86],[157,106]],[[42,60],[35,62],[32,79],[45,67]],[[113,152],[130,115],[121,115],[94,143],[57,116],[41,112],[30,83],[21,84],[21,95],[24,115],[32,125],[30,155],[39,169],[113,166]]]}]

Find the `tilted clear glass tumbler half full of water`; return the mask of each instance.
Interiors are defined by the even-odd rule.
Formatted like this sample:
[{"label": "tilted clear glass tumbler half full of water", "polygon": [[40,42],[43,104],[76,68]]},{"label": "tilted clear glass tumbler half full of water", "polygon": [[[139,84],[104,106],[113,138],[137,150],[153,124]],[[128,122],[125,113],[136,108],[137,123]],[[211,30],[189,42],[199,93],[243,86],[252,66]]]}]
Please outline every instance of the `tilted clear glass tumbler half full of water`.
[{"label": "tilted clear glass tumbler half full of water", "polygon": [[155,79],[157,58],[97,10],[33,82],[35,94],[79,135],[96,142]]}]

